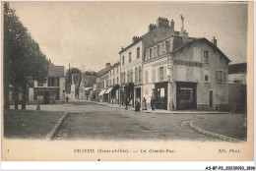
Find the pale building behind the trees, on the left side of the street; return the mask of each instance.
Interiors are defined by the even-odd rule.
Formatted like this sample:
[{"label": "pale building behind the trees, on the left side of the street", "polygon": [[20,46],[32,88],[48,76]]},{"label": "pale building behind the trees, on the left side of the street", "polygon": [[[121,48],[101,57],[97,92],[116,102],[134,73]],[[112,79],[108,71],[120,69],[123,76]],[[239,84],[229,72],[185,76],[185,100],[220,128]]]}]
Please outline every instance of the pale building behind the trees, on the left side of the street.
[{"label": "pale building behind the trees, on the left side of the street", "polygon": [[64,66],[55,66],[49,62],[48,78],[45,83],[34,81],[29,87],[29,101],[43,103],[58,103],[65,100]]}]

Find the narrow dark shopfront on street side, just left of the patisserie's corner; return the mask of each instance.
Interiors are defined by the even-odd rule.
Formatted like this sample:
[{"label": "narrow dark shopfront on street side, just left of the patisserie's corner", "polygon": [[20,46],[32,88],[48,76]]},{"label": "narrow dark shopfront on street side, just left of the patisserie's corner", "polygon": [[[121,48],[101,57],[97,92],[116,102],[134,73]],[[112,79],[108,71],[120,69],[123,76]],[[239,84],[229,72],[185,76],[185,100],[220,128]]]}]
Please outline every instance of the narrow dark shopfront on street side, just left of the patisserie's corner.
[{"label": "narrow dark shopfront on street side, just left of the patisserie's corner", "polygon": [[167,110],[168,83],[155,84],[156,108]]}]

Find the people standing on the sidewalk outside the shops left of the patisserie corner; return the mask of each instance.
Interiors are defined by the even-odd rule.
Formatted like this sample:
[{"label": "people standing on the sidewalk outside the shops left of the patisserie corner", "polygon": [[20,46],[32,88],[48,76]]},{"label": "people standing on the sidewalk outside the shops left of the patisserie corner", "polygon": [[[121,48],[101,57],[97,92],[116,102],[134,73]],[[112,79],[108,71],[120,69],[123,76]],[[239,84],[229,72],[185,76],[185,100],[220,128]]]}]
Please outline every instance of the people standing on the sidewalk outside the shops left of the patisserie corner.
[{"label": "people standing on the sidewalk outside the shops left of the patisserie corner", "polygon": [[[130,101],[131,101],[131,98],[126,98],[125,110],[128,109]],[[152,110],[155,110],[155,108],[156,108],[156,100],[155,100],[155,98],[153,98],[153,96],[151,97],[151,108],[152,108]],[[141,100],[140,100],[140,97],[138,97],[135,100],[135,111],[139,112],[140,110],[141,110]],[[145,97],[143,97],[143,100],[142,100],[142,110],[147,110],[147,101],[146,101]]]}]

